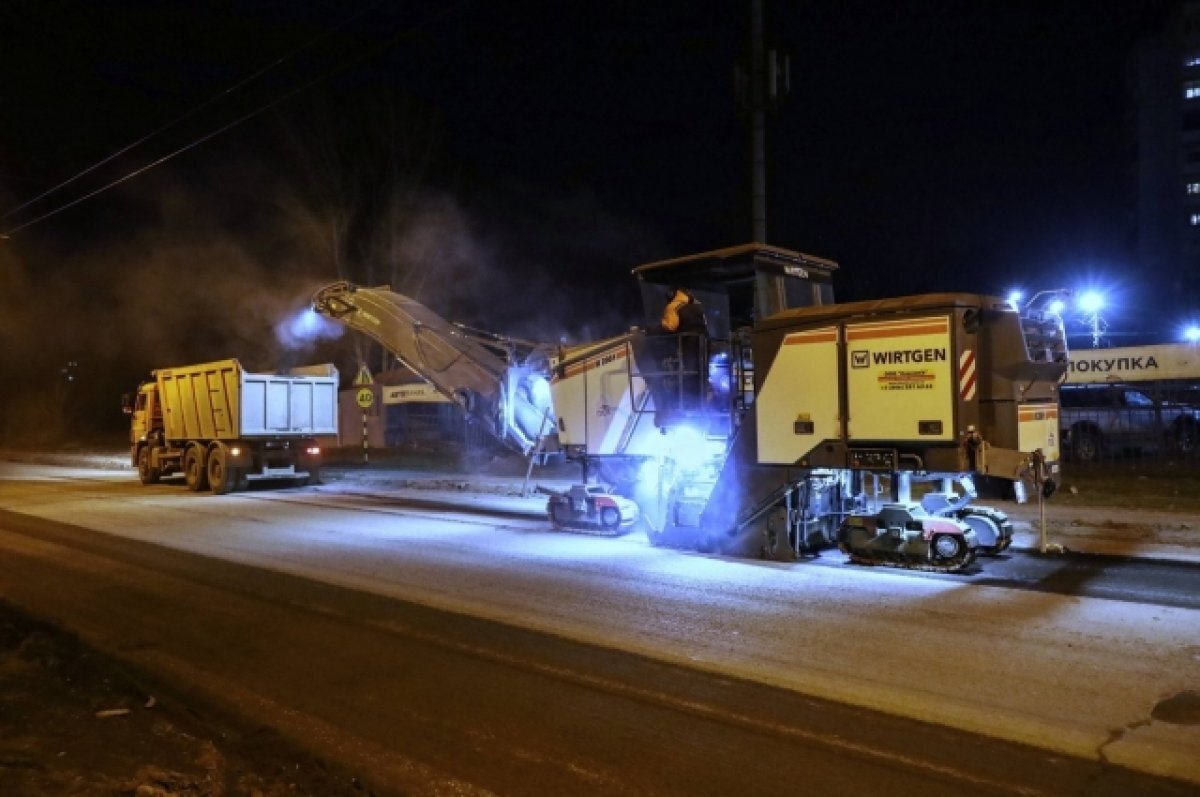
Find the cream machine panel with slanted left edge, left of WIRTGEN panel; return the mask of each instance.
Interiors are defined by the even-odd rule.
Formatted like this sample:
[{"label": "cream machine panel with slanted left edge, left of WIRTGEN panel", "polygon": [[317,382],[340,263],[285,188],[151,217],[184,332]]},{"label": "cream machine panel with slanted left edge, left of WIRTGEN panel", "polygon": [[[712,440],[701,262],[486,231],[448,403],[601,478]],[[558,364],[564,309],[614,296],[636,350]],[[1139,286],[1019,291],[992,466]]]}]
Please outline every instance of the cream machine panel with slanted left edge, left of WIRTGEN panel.
[{"label": "cream machine panel with slanted left edge, left of WIRTGEN panel", "polygon": [[758,462],[792,465],[841,437],[838,328],[787,334],[755,398]]}]

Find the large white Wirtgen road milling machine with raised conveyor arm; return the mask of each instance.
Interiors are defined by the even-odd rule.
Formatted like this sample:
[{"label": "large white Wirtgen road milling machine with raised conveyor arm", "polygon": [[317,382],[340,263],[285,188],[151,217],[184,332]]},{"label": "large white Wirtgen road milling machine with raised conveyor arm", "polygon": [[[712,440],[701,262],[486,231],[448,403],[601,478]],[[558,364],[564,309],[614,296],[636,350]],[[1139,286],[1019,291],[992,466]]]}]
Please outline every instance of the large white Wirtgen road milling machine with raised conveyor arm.
[{"label": "large white Wirtgen road milling machine with raised conveyor arm", "polygon": [[[1052,492],[1061,322],[964,293],[838,305],[836,268],[761,244],[640,265],[646,326],[520,356],[386,288],[336,283],[313,308],[514,449],[580,462],[547,505],[560,528],[935,571],[1003,551],[1012,525],[971,504],[973,478]],[[698,326],[670,323],[680,301]]]}]

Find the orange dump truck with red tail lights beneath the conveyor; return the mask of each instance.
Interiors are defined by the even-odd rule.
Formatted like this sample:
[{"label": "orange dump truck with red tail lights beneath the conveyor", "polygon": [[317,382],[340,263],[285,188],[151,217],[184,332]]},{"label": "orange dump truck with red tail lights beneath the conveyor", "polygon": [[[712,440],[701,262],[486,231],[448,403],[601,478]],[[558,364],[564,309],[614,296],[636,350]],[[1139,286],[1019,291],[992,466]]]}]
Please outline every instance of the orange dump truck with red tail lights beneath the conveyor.
[{"label": "orange dump truck with red tail lights beneath the conveyor", "polygon": [[222,495],[260,479],[320,479],[317,438],[337,435],[332,365],[252,373],[230,359],[152,377],[124,401],[142,484],[182,473],[193,492]]}]

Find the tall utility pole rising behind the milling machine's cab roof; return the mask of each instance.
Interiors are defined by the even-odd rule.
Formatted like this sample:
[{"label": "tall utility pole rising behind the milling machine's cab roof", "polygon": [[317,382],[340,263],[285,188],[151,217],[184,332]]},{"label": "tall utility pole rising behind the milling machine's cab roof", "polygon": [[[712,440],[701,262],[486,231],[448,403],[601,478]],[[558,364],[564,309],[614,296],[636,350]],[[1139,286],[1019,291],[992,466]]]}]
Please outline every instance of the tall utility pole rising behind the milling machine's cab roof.
[{"label": "tall utility pole rising behind the milling machine's cab roof", "polygon": [[779,107],[791,89],[791,59],[768,50],[763,35],[763,0],[750,0],[750,68],[736,68],[739,108],[750,115],[750,200],[752,236],[767,242],[767,110]]}]

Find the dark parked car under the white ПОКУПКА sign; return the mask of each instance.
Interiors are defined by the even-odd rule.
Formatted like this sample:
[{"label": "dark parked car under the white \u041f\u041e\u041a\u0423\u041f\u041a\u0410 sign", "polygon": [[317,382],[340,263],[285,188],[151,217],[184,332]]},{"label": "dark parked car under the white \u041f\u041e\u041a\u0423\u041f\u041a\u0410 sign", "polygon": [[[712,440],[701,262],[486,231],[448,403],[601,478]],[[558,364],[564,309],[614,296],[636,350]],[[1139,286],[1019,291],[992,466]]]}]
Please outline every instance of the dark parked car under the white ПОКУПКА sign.
[{"label": "dark parked car under the white \u041f\u041e\u041a\u0423\u041f\u041a\u0410 sign", "polygon": [[1126,451],[1198,450],[1200,406],[1158,401],[1128,384],[1064,384],[1060,398],[1063,449],[1074,462]]}]

